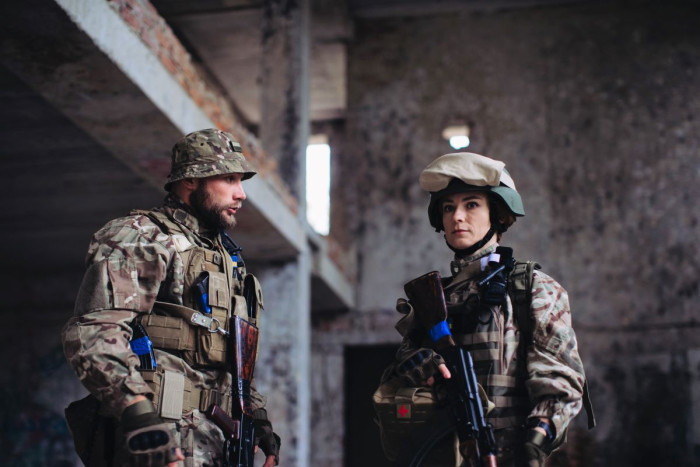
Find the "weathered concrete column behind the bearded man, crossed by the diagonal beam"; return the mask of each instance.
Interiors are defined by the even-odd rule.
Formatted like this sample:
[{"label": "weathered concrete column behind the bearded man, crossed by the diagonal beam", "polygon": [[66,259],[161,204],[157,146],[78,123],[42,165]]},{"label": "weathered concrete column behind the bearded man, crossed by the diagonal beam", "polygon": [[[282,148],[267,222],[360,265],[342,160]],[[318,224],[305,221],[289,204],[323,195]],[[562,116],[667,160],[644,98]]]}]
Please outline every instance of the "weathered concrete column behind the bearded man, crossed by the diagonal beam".
[{"label": "weathered concrete column behind the bearded man, crossed by the diagonal beam", "polygon": [[[309,0],[266,0],[261,58],[260,140],[298,200],[301,226],[306,224],[309,11]],[[266,267],[260,279],[265,312],[256,374],[261,392],[268,396],[270,418],[282,438],[280,465],[304,467],[309,465],[311,439],[308,242],[302,242],[294,261]]]}]

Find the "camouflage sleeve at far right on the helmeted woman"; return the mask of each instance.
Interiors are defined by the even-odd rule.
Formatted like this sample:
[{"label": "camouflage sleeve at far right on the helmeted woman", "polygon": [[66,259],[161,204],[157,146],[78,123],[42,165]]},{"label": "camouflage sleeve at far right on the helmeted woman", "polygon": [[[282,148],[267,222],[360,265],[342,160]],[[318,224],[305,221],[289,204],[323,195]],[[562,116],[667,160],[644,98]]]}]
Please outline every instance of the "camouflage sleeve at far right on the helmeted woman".
[{"label": "camouflage sleeve at far right on the helmeted woman", "polygon": [[531,311],[535,322],[526,385],[535,407],[530,417],[549,418],[559,440],[581,410],[585,380],[566,290],[536,271]]}]

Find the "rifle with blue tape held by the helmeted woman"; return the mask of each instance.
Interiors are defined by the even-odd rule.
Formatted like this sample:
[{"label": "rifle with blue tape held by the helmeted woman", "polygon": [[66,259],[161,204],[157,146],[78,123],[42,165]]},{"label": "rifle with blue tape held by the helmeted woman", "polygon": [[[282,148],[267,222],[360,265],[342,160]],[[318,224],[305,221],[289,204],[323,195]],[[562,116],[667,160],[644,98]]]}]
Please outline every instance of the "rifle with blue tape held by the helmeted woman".
[{"label": "rifle with blue tape held by the helmeted woman", "polygon": [[404,291],[416,319],[428,331],[452,375],[447,388],[455,429],[460,444],[466,446],[467,465],[496,467],[493,427],[484,417],[471,354],[457,346],[450,333],[440,273],[433,271],[414,279],[404,286]]}]

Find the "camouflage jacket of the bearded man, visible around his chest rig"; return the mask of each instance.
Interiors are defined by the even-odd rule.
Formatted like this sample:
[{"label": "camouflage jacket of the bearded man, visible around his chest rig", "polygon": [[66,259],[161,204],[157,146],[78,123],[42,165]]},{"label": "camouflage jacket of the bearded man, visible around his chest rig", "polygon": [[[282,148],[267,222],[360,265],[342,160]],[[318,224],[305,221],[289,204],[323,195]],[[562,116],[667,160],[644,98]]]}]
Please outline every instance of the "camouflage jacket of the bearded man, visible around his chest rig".
[{"label": "camouflage jacket of the bearded man, visible around his chest rig", "polygon": [[[101,402],[103,413],[115,417],[136,396],[153,394],[129,347],[129,323],[150,313],[156,300],[183,304],[186,271],[180,243],[194,241],[225,254],[216,233],[200,225],[174,196],[168,195],[156,211],[181,225],[187,239],[163,233],[143,214],[108,222],[90,242],[74,316],[63,329],[64,352],[78,378]],[[176,353],[159,350],[156,362],[161,369],[184,374],[194,388],[230,392],[232,377],[226,371],[195,369]],[[264,414],[264,398],[254,389],[252,393],[256,413]]]}]

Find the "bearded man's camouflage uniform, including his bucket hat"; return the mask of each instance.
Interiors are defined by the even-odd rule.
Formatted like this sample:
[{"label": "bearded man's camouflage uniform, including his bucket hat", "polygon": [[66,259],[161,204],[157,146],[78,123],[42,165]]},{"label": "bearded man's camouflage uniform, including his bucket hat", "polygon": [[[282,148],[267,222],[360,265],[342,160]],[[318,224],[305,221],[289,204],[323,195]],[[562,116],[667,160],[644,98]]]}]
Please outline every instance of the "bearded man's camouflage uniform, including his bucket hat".
[{"label": "bearded man's camouflage uniform, including his bucket hat", "polygon": [[[190,148],[195,144],[204,146],[214,141],[210,155],[218,167],[215,166],[212,172],[211,161],[205,160],[198,167],[192,160],[187,160],[187,148],[181,144],[183,141]],[[179,149],[177,145],[174,148],[173,171],[168,185],[187,177],[243,172],[243,178],[249,178],[254,174],[242,156],[237,154],[240,147],[234,148],[235,142],[226,133],[205,130],[188,135],[181,143],[178,143]],[[228,149],[223,152],[217,150],[223,144]],[[201,162],[201,154],[200,149],[199,159],[195,162]],[[230,293],[242,295],[246,277],[242,260],[239,258],[238,264],[233,263],[219,232],[202,225],[191,208],[173,194],[166,197],[160,208],[134,212],[107,223],[93,236],[88,248],[87,272],[78,294],[74,317],[63,329],[64,351],[81,382],[99,401],[103,421],[111,425],[110,430],[114,430],[112,439],[105,441],[108,446],[112,441],[115,443],[113,451],[107,447],[102,454],[112,457],[109,453],[113,452],[116,465],[127,465],[123,457],[125,453],[118,417],[137,396],[153,398],[154,392],[161,390],[160,380],[168,373],[184,375],[185,380],[182,413],[177,419],[168,417],[168,421],[172,422],[172,432],[180,441],[186,458],[185,465],[221,464],[223,435],[202,410],[206,410],[212,402],[230,407],[233,379],[223,366],[225,358],[220,355],[217,361],[214,356],[212,361],[202,362],[196,355],[197,358],[193,357],[197,349],[201,350],[196,344],[193,351],[189,344],[184,346],[186,348],[168,345],[167,342],[159,344],[158,339],[151,336],[156,347],[157,372],[141,372],[138,369],[139,358],[129,344],[132,337],[130,323],[140,320],[148,330],[147,320],[154,316],[152,311],[154,307],[158,308],[158,304],[193,306],[193,291],[188,290],[192,280],[188,275],[201,272],[201,269],[195,271],[194,266],[188,269],[188,261],[183,261],[183,257],[193,248],[197,248],[202,257],[213,258],[214,263],[225,265],[222,271],[226,271],[230,278],[224,279],[224,282],[231,282]],[[194,261],[190,259],[189,263]],[[208,266],[200,261],[196,267]],[[220,275],[224,276],[223,273]],[[229,290],[225,292],[228,297]],[[230,316],[233,312],[227,309],[230,303],[229,300],[221,311],[223,316]],[[166,312],[159,314],[167,315],[167,306]],[[160,319],[169,319],[180,325],[175,318]],[[222,318],[221,321],[226,320]],[[193,326],[185,325],[184,328],[185,334],[194,332]],[[208,331],[199,331],[202,332],[196,337],[212,346]],[[220,335],[215,335],[214,339],[216,336]],[[272,439],[265,399],[254,388],[251,389],[251,398],[257,421],[256,438],[262,435],[267,439],[266,442],[272,446],[265,448],[277,455],[279,443],[278,439]],[[158,404],[159,400],[154,400],[154,403]],[[93,462],[99,464],[97,459],[93,459]]]}]

